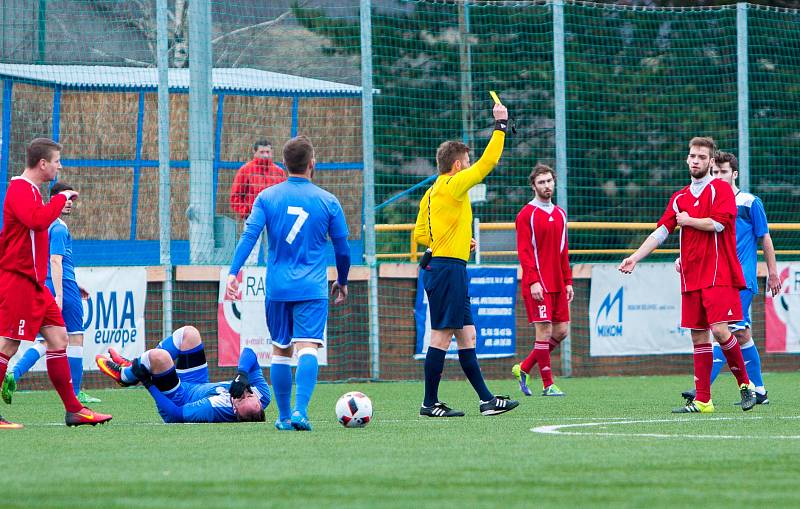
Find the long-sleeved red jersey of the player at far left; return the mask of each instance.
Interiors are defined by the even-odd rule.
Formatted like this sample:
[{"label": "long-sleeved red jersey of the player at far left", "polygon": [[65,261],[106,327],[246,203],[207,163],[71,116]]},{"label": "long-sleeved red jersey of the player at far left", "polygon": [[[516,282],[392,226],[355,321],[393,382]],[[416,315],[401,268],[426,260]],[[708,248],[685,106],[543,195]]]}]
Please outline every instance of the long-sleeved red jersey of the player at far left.
[{"label": "long-sleeved red jersey of the player at far left", "polygon": [[50,255],[47,229],[61,215],[66,202],[66,196],[57,194],[45,205],[33,182],[22,177],[11,179],[3,203],[0,270],[44,285]]}]

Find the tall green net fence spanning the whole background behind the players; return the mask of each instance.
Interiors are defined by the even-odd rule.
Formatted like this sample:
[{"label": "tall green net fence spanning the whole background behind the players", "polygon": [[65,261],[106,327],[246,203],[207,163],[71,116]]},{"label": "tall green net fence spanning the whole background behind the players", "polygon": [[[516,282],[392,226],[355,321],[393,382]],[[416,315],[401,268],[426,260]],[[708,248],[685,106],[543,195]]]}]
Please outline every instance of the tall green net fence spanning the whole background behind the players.
[{"label": "tall green net fence spanning the whole background behind the players", "polygon": [[[220,302],[221,271],[230,263],[243,223],[231,207],[234,180],[253,159],[259,140],[269,141],[279,164],[285,141],[305,134],[317,149],[315,181],[342,202],[353,260],[360,265],[351,277],[348,304],[331,307],[329,367],[323,376],[408,379],[419,378],[422,369],[412,359],[417,281],[408,225],[436,173],[439,143],[462,140],[472,148],[473,160],[480,156],[493,125],[489,90],[509,107],[517,132],[486,179],[485,201],[473,207],[484,225],[482,264],[516,264],[514,231],[507,224],[532,198],[527,185],[532,166],[557,162],[560,107],[567,155],[561,189],[567,196],[557,195],[556,201],[568,198],[573,222],[653,223],[669,195],[688,180],[685,155],[691,137],[713,136],[720,148],[734,153],[742,148],[741,11],[736,6],[371,3],[367,38],[374,110],[368,119],[362,118],[358,1],[212,3],[206,33],[197,36],[211,49],[206,69],[211,102],[198,118],[190,118],[193,11],[188,1],[167,3],[169,272],[159,245],[165,224],[158,209],[164,187],[159,182],[156,2],[41,0],[31,7],[31,2],[5,1],[0,6],[0,187],[22,171],[29,140],[48,136],[63,143],[60,178],[81,192],[67,220],[77,265],[142,267],[130,277],[147,280],[142,300],[147,347],[162,336],[165,317],[174,327],[195,325],[207,339],[212,377],[228,376],[232,370],[221,365],[227,355],[221,338],[236,339],[236,331],[221,330],[230,325],[226,320],[263,321],[256,308],[244,311]],[[563,12],[560,26],[557,10]],[[771,222],[797,223],[800,13],[752,5],[745,13],[750,189],[764,200]],[[563,34],[563,53],[556,47],[557,33]],[[564,70],[563,103],[555,95],[556,63]],[[364,187],[365,120],[374,133],[374,146],[367,147],[375,161],[369,189]],[[190,139],[201,142],[193,148]],[[193,173],[193,154],[202,159],[197,167],[207,171]],[[370,194],[374,211],[365,205]],[[371,273],[363,265],[368,251],[363,225],[373,215],[378,266]],[[575,229],[570,232],[572,260],[618,261],[646,235],[647,230],[620,230],[613,224]],[[796,259],[798,230],[776,231],[773,237],[779,253],[786,252],[781,258]],[[675,249],[675,239],[663,247]],[[674,255],[656,256],[669,260]],[[263,277],[258,267],[254,261],[253,277]],[[372,301],[369,279],[375,274],[378,298]],[[166,282],[166,277],[172,279]],[[640,372],[654,365],[685,369],[686,356],[591,357],[589,288],[589,279],[577,280],[573,374]],[[93,326],[102,329],[98,317],[111,315],[98,307],[98,299],[87,304],[87,313],[94,306]],[[763,320],[761,306],[756,303],[757,323]],[[519,353],[529,348],[531,335],[524,316],[518,305]],[[246,338],[241,340],[244,345]],[[107,346],[101,342],[93,348]],[[770,366],[781,362],[788,361],[767,359]],[[483,366],[489,376],[504,376],[508,365],[509,359],[496,359]],[[558,357],[554,366],[562,366]],[[100,383],[96,372],[87,382]]]}]

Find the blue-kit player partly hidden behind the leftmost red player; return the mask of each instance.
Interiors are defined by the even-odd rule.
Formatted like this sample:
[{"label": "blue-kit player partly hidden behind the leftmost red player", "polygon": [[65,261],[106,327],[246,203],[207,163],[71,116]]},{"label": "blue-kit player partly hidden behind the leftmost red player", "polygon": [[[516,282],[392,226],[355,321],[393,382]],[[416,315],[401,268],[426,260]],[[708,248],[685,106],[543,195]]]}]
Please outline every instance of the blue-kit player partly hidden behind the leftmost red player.
[{"label": "blue-kit player partly hidden behind the leftmost red player", "polygon": [[[64,182],[56,182],[50,188],[50,196],[56,196],[63,191],[74,190]],[[73,200],[67,200],[62,216],[69,216],[74,206]],[[61,218],[56,219],[47,230],[50,239],[50,259],[47,265],[47,280],[45,284],[61,308],[61,316],[67,326],[69,344],[67,346],[67,361],[69,362],[72,386],[75,395],[81,403],[99,403],[100,400],[86,394],[81,390],[83,378],[83,302],[89,295],[86,290],[78,286],[75,279],[75,261],[72,257],[72,235],[69,227]],[[3,401],[11,404],[17,382],[27,373],[36,362],[45,354],[44,343],[37,340],[19,359],[14,372],[6,373],[3,379],[3,388],[0,391]]]}]

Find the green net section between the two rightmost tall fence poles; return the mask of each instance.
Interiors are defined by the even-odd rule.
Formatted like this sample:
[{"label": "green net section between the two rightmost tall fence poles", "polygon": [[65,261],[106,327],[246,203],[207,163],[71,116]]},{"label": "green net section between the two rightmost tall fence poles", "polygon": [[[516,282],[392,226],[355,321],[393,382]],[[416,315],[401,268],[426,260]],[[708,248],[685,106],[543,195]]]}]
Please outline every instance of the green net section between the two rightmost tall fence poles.
[{"label": "green net section between the two rightmost tall fence poles", "polygon": [[[571,219],[653,222],[687,180],[689,139],[737,152],[736,10],[565,11]],[[571,242],[635,248],[644,233]]]}]

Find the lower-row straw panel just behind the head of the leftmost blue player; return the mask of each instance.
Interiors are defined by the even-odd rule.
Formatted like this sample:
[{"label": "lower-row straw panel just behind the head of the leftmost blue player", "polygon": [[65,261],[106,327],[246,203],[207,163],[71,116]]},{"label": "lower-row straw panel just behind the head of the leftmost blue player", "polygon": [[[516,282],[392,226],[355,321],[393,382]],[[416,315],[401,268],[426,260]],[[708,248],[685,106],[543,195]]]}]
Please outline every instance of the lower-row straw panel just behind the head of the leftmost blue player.
[{"label": "lower-row straw panel just behind the head of the leftmost blue player", "polygon": [[128,240],[133,168],[64,168],[59,179],[80,197],[69,219],[75,239]]}]

